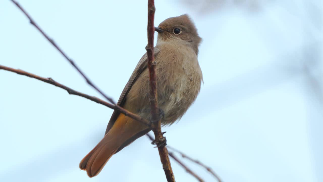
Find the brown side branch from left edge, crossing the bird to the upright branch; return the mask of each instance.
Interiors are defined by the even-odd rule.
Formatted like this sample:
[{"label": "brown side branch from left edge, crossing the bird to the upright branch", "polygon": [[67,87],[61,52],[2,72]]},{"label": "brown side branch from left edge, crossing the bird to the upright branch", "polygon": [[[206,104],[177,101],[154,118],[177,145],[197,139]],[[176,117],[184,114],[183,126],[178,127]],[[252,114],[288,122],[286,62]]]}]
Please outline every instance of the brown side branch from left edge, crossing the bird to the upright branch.
[{"label": "brown side branch from left edge, crossing the bird to the upright branch", "polygon": [[31,78],[36,78],[37,80],[40,80],[40,81],[43,81],[43,82],[46,82],[46,83],[49,83],[51,85],[55,85],[59,88],[63,88],[64,90],[66,90],[68,92],[68,94],[70,95],[77,95],[77,96],[80,96],[80,97],[84,97],[84,98],[87,98],[89,100],[92,100],[98,104],[102,104],[104,106],[107,106],[108,108],[111,108],[111,109],[114,109],[114,110],[117,110],[119,112],[121,112],[122,114],[132,118],[132,119],[135,119],[145,125],[147,125],[148,127],[151,128],[151,122],[146,120],[146,119],[143,119],[141,118],[140,116],[138,116],[137,114],[134,114],[124,108],[121,108],[120,106],[118,105],[115,105],[115,104],[110,104],[104,100],[101,100],[99,99],[98,97],[93,97],[93,96],[89,96],[89,95],[86,95],[86,94],[83,94],[81,92],[78,92],[76,90],[73,90],[65,85],[62,85],[56,81],[54,81],[52,78],[44,78],[44,77],[41,77],[41,76],[38,76],[38,75],[35,75],[35,74],[31,74],[31,73],[28,73],[28,72],[25,72],[23,70],[19,70],[19,69],[14,69],[14,68],[9,68],[9,67],[6,67],[6,66],[2,66],[0,65],[0,70],[7,70],[7,71],[10,71],[10,72],[14,72],[16,74],[21,74],[21,75],[25,75],[25,76],[28,76],[28,77],[31,77]]}]

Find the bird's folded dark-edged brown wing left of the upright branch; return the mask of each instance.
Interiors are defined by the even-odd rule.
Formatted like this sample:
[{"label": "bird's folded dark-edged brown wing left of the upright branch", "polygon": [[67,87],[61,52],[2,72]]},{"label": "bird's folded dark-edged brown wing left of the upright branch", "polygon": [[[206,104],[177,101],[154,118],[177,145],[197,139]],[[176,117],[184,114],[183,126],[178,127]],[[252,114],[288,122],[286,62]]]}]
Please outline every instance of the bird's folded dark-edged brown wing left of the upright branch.
[{"label": "bird's folded dark-edged brown wing left of the upright branch", "polygon": [[[158,47],[154,48],[154,55],[155,57],[157,56],[157,54],[160,52],[160,49],[158,49]],[[135,70],[132,72],[128,83],[126,84],[126,86],[124,87],[120,98],[118,100],[117,105],[120,107],[124,106],[124,103],[126,102],[127,99],[127,95],[132,87],[132,85],[136,82],[136,80],[138,79],[138,77],[140,76],[140,74],[147,69],[148,67],[148,62],[147,62],[147,52],[141,57],[139,63],[137,64]],[[114,122],[116,121],[116,119],[118,118],[120,112],[114,110],[112,113],[112,116],[110,118],[110,121],[108,123],[107,126],[107,130],[105,131],[105,135],[108,133],[108,131],[112,128],[112,126],[114,125]]]}]

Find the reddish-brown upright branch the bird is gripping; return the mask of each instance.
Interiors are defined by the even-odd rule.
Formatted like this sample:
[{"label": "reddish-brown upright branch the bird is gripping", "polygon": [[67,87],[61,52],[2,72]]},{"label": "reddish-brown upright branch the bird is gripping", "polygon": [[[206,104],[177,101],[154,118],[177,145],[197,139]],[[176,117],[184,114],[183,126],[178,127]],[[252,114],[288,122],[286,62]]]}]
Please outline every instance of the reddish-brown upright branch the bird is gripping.
[{"label": "reddish-brown upright branch the bird is gripping", "polygon": [[148,44],[146,46],[148,56],[148,69],[149,69],[149,84],[150,84],[150,105],[152,115],[152,131],[155,134],[155,142],[158,147],[158,152],[161,158],[162,167],[164,169],[168,182],[175,182],[175,177],[172,171],[171,162],[168,157],[166,148],[166,138],[163,137],[161,132],[161,120],[159,118],[158,98],[157,98],[157,82],[156,82],[156,62],[154,61],[154,15],[155,5],[154,0],[148,0],[148,26],[147,37]]}]

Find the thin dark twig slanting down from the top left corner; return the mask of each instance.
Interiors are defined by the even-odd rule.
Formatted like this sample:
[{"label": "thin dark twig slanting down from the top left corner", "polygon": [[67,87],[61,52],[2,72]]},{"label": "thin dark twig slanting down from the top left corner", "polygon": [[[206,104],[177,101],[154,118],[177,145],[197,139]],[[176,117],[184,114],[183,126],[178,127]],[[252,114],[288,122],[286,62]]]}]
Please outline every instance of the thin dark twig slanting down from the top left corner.
[{"label": "thin dark twig slanting down from the top left corner", "polygon": [[73,60],[71,60],[59,47],[58,45],[54,42],[53,39],[50,39],[48,35],[36,24],[36,22],[28,15],[28,13],[25,11],[24,8],[22,8],[19,3],[17,3],[15,0],[11,0],[15,5],[26,15],[26,17],[29,19],[30,24],[32,24],[34,27],[36,27],[41,34],[59,51],[65,58],[66,60],[72,64],[72,66],[80,73],[83,78],[86,80],[86,82],[91,85],[95,90],[97,90],[103,97],[105,97],[107,100],[109,100],[112,104],[116,104],[111,97],[108,97],[106,94],[104,94],[97,86],[95,86],[90,79],[85,76],[85,74],[78,68],[78,66],[74,63]]}]

